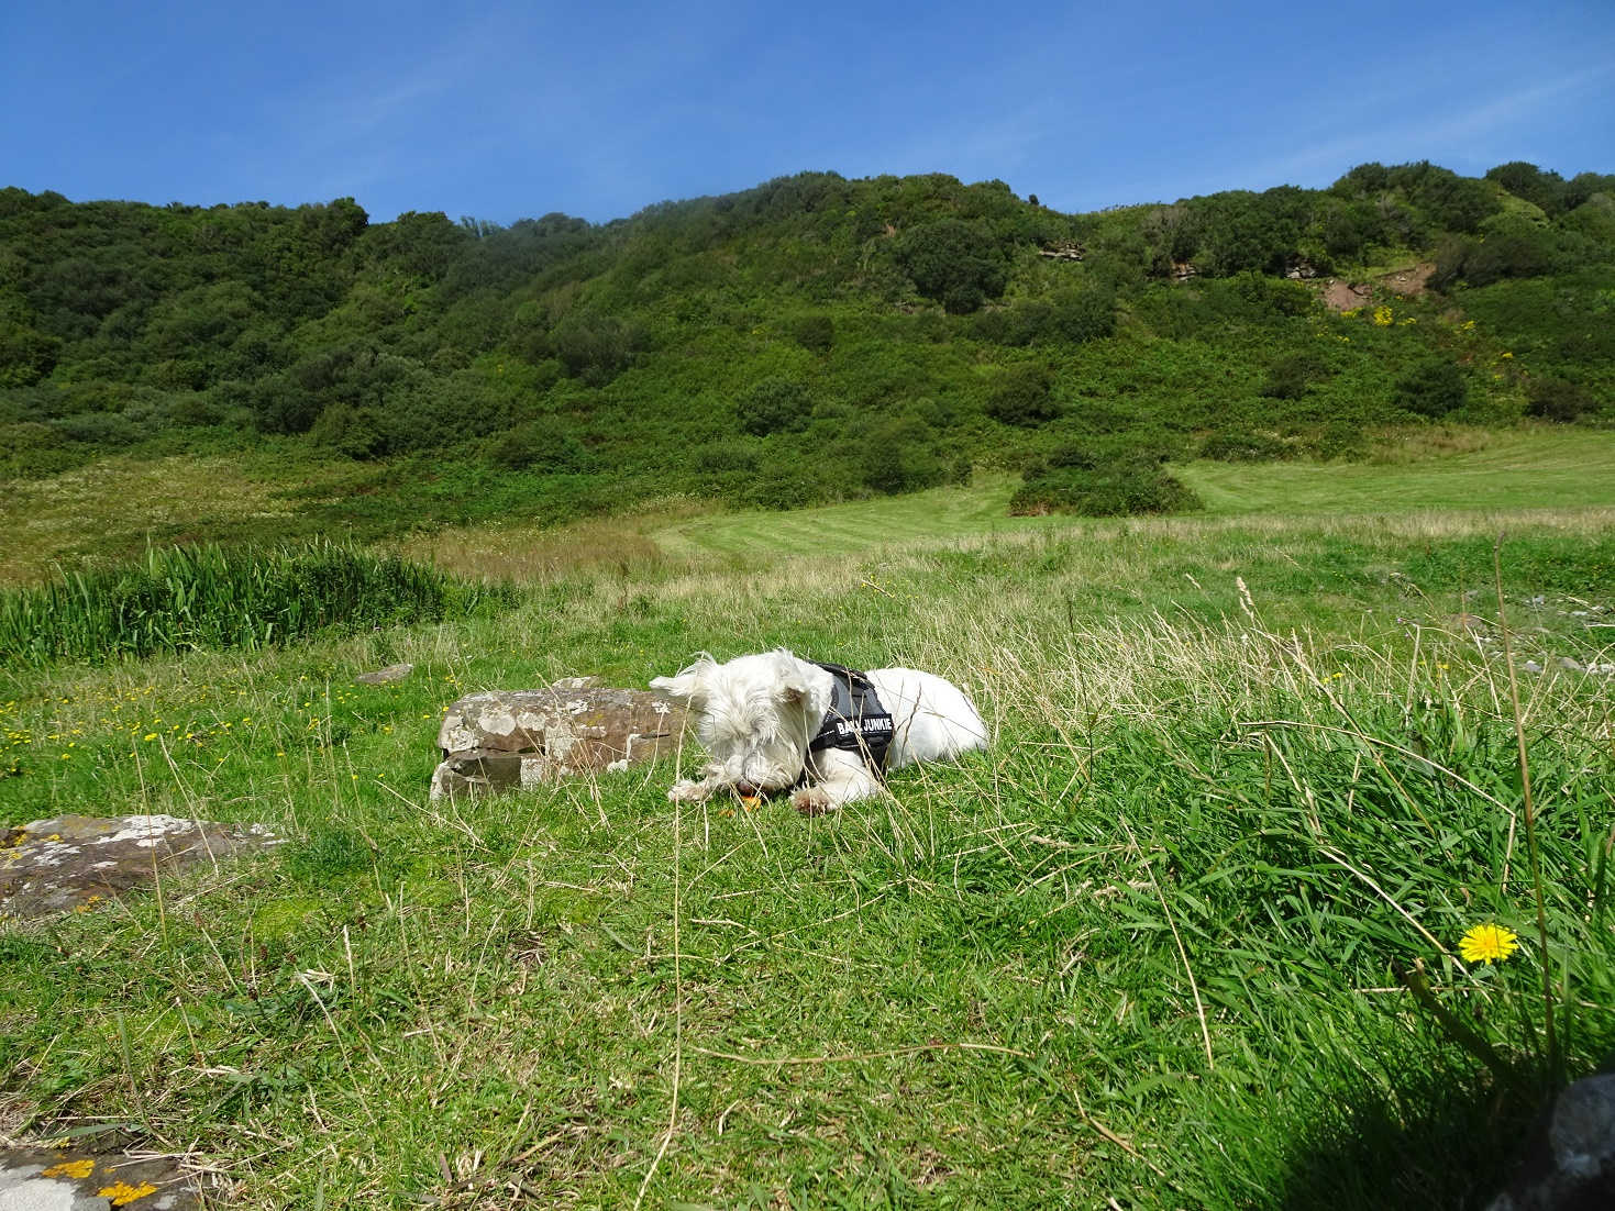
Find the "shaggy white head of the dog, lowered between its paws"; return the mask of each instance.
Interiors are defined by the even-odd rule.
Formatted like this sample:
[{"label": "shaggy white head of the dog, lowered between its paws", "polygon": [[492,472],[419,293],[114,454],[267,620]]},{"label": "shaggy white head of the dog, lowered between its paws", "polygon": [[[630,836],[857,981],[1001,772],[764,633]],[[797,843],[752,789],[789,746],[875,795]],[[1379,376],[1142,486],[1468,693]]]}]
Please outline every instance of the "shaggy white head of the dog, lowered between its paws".
[{"label": "shaggy white head of the dog, lowered between its paws", "polygon": [[704,652],[656,689],[683,698],[696,735],[712,754],[707,777],[741,794],[791,786],[808,759],[808,741],[830,707],[833,680],[783,647],[717,664]]}]

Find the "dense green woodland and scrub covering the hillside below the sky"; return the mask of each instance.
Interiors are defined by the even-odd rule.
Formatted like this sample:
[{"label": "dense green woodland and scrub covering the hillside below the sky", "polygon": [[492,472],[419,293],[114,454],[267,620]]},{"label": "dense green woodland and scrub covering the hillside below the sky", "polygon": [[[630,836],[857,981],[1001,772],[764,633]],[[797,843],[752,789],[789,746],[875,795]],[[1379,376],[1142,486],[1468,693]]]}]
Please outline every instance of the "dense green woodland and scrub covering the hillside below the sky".
[{"label": "dense green woodland and scrub covering the hillside below the sky", "polygon": [[[1331,278],[1433,262],[1334,312]],[[782,178],[604,224],[0,191],[0,476],[115,452],[355,463],[354,533],[975,468],[1192,507],[1190,457],[1615,420],[1615,176],[1429,163],[1064,215],[1001,181]],[[373,475],[365,478],[365,468]]]}]

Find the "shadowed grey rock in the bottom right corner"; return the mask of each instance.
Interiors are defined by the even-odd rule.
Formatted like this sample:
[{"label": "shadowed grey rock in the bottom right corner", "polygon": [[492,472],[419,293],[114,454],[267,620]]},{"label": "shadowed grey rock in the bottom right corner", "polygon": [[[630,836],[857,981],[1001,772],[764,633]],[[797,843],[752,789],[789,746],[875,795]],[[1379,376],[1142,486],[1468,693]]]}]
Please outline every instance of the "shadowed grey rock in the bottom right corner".
[{"label": "shadowed grey rock in the bottom right corner", "polygon": [[1615,1072],[1583,1077],[1544,1116],[1531,1151],[1489,1211],[1615,1206]]}]

